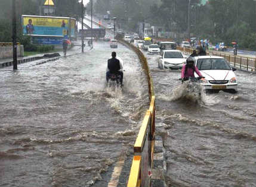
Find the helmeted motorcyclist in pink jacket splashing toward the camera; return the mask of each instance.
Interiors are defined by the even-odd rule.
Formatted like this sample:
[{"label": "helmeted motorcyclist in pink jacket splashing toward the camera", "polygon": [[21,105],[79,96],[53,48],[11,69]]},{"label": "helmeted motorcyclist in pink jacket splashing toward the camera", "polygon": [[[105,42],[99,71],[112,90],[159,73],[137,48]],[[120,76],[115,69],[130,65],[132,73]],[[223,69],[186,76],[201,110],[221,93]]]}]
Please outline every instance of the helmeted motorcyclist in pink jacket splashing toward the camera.
[{"label": "helmeted motorcyclist in pink jacket splashing toward the camera", "polygon": [[187,63],[183,65],[181,69],[181,80],[189,80],[190,77],[195,78],[194,72],[198,74],[201,80],[205,80],[201,72],[198,70],[198,67],[194,65],[194,59],[192,57],[187,58]]}]

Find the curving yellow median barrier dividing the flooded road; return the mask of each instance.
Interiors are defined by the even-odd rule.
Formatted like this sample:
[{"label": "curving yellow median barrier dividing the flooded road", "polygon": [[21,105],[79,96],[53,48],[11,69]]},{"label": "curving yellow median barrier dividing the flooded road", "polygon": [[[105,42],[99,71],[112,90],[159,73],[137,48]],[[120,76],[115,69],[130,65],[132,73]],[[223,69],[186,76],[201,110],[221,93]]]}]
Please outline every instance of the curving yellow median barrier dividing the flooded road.
[{"label": "curving yellow median barrier dividing the flooded road", "polygon": [[144,72],[147,76],[149,86],[149,110],[146,111],[143,122],[134,144],[134,156],[127,187],[150,186],[151,169],[153,166],[153,153],[155,149],[155,92],[153,81],[149,73],[147,59],[137,47],[130,45],[122,39],[119,42],[130,47],[137,53]]}]

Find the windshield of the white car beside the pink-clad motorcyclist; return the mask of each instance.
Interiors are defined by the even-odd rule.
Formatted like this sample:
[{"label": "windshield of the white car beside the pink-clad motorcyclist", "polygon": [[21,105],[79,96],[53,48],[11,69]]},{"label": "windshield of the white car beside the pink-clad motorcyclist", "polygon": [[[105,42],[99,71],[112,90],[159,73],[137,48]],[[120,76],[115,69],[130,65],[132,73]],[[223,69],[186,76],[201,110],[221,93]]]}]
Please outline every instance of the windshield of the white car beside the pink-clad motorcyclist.
[{"label": "windshield of the white car beside the pink-clad motorcyclist", "polygon": [[206,59],[198,59],[198,63],[196,64],[199,70],[210,70],[210,69],[224,69],[230,70],[229,64],[225,59],[220,58],[206,58]]}]

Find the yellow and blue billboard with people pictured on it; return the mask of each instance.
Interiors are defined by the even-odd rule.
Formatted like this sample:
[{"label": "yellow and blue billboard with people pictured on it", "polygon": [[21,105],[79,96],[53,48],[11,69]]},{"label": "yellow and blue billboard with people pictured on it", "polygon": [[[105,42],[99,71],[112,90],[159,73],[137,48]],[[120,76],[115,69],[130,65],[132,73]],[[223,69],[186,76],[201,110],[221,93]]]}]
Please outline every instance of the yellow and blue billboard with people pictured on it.
[{"label": "yellow and blue billboard with people pictured on it", "polygon": [[69,30],[69,18],[22,15],[22,26],[24,35],[65,36]]}]

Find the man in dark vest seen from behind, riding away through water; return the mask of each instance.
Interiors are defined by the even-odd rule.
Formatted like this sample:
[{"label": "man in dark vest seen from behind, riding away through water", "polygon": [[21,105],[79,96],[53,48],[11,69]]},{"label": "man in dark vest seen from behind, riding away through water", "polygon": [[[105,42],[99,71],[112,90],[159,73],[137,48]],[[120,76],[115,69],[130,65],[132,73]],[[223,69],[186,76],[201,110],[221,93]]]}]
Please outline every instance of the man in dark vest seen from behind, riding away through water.
[{"label": "man in dark vest seen from behind, riding away through water", "polygon": [[116,52],[112,52],[112,58],[107,60],[106,79],[109,81],[110,74],[120,75],[120,84],[123,85],[124,73],[122,72],[122,63],[116,58]]}]

